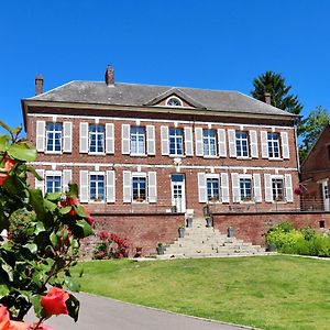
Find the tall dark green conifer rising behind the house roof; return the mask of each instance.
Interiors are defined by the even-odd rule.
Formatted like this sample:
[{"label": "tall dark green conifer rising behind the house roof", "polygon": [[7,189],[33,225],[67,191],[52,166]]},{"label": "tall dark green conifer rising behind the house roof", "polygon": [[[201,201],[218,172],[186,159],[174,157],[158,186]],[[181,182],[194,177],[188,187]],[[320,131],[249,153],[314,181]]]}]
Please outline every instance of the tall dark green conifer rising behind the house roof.
[{"label": "tall dark green conifer rising behind the house roof", "polygon": [[295,95],[288,95],[292,86],[286,86],[285,78],[280,74],[266,72],[265,74],[253,79],[254,90],[251,95],[261,101],[265,100],[265,92],[271,94],[271,105],[288,111],[294,114],[299,114],[302,106]]}]

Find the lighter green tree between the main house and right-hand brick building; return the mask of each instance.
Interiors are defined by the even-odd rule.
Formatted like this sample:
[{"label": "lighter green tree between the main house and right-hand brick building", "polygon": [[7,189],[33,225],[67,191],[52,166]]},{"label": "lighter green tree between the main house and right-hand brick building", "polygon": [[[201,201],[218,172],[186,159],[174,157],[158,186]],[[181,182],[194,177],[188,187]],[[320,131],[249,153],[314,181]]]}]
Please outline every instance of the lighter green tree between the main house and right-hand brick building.
[{"label": "lighter green tree between the main house and right-hand brick building", "polygon": [[330,122],[330,116],[327,109],[321,106],[310,111],[309,116],[302,121],[302,141],[299,145],[300,163],[318,140],[324,127]]}]

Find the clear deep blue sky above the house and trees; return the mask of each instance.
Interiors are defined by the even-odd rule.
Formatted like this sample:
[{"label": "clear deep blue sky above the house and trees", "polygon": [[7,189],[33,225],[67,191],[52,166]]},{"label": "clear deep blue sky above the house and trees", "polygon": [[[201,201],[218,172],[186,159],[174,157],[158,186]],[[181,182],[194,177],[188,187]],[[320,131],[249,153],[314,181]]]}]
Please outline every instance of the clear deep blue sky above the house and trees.
[{"label": "clear deep blue sky above the house and trees", "polygon": [[305,106],[330,109],[330,1],[16,0],[0,4],[0,119],[22,98],[70,80],[116,80],[250,94],[280,73]]}]

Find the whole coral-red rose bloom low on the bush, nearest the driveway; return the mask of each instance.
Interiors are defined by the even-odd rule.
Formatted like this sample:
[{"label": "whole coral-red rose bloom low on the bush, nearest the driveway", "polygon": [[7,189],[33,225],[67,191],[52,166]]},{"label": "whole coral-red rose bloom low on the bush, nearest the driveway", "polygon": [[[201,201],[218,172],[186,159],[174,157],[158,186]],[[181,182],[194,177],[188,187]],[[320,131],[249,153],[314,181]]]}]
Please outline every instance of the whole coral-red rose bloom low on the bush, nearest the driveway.
[{"label": "whole coral-red rose bloom low on the bush, nearest the driveway", "polygon": [[69,295],[58,288],[58,287],[52,287],[50,292],[42,296],[42,307],[44,312],[47,316],[51,315],[59,315],[59,314],[68,314],[67,307],[65,305],[65,301],[69,298]]}]

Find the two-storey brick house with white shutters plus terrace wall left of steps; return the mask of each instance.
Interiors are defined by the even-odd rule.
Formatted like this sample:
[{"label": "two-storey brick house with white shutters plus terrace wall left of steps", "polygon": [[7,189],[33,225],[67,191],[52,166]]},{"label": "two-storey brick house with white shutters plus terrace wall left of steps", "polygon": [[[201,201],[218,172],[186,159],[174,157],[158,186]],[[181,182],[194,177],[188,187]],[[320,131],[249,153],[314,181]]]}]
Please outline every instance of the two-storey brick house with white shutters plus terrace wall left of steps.
[{"label": "two-storey brick house with white shutters plus terrace wall left of steps", "polygon": [[206,204],[215,212],[299,208],[295,116],[270,99],[117,84],[111,66],[106,81],[43,92],[36,77],[35,87],[22,100],[44,177],[35,185],[47,193],[78,183],[80,201],[106,228],[117,219],[113,229],[160,240]]}]

